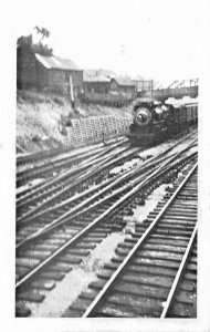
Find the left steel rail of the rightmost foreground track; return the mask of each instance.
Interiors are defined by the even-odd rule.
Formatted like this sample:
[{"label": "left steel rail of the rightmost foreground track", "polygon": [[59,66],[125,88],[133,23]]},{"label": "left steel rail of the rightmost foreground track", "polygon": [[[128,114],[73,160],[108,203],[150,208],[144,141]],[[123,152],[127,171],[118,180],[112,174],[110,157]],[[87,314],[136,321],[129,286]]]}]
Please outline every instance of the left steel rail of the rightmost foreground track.
[{"label": "left steel rail of the rightmost foreground track", "polygon": [[156,216],[156,218],[154,219],[154,221],[146,229],[146,231],[144,232],[144,235],[136,242],[136,245],[133,247],[133,249],[126,256],[126,258],[124,259],[124,261],[119,264],[119,267],[117,268],[117,270],[113,273],[113,276],[111,277],[111,279],[105,283],[104,288],[99,291],[99,293],[94,299],[94,301],[91,303],[91,305],[87,308],[87,310],[84,312],[84,314],[82,315],[82,318],[91,317],[91,314],[94,312],[96,305],[98,305],[98,303],[102,301],[102,298],[107,293],[107,291],[109,290],[111,286],[119,277],[122,270],[125,268],[125,266],[127,264],[127,262],[133,258],[133,256],[135,255],[135,252],[137,251],[137,249],[139,249],[139,247],[143,246],[143,243],[145,242],[145,240],[147,239],[147,237],[150,235],[150,232],[153,231],[153,229],[156,226],[156,224],[159,221],[159,219],[162,217],[162,215],[165,214],[165,211],[167,210],[167,208],[171,205],[171,203],[178,196],[179,191],[181,190],[181,188],[183,187],[183,185],[188,181],[189,177],[197,169],[197,166],[198,166],[198,163],[196,163],[196,165],[192,167],[192,169],[188,173],[188,175],[185,177],[185,179],[179,185],[179,187],[177,188],[177,190],[174,193],[174,195],[170,197],[170,199],[167,201],[167,204],[164,206],[164,208],[160,210],[160,212]]}]

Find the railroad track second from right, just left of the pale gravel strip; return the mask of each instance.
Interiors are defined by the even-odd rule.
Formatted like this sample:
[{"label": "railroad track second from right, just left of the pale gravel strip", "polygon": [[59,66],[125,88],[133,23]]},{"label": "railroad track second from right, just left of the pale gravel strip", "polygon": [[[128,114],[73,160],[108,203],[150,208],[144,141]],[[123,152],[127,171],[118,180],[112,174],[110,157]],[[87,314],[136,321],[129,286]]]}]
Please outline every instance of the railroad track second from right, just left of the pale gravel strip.
[{"label": "railroad track second from right, just left of the pale gravel strip", "polygon": [[[195,157],[188,156],[185,160],[182,159],[180,163],[177,163],[176,172],[171,172],[171,167],[167,169],[165,167],[162,170],[165,169],[165,173],[167,170],[168,176],[172,178],[175,177],[175,173],[177,174],[191,158],[193,159]],[[21,301],[43,301],[44,295],[40,293],[40,290],[48,290],[49,284],[54,287],[54,281],[62,279],[75,263],[80,263],[82,257],[86,257],[96,243],[102,241],[107,234],[112,232],[113,227],[122,229],[124,222],[122,225],[114,222],[113,225],[114,219],[116,221],[116,210],[119,209],[119,212],[129,214],[130,207],[125,207],[129,201],[128,198],[132,197],[133,199],[134,194],[138,191],[138,197],[134,199],[140,203],[143,193],[147,190],[146,195],[148,195],[155,186],[159,185],[158,176],[160,176],[160,173],[156,175],[157,183],[154,183],[154,177],[153,180],[150,178],[153,185],[149,181],[149,189],[147,187],[149,184],[147,184],[146,179],[144,179],[145,181],[141,179],[141,183],[137,184],[132,190],[127,193],[120,191],[118,193],[119,195],[117,194],[118,197],[117,195],[111,195],[109,199],[106,199],[106,203],[103,201],[97,208],[92,208],[91,214],[87,215],[86,210],[84,210],[84,215],[80,214],[77,217],[66,218],[61,224],[49,228],[46,232],[42,231],[40,235],[31,238],[30,241],[23,241],[22,245],[18,246],[18,304]],[[49,283],[46,280],[53,281]],[[30,310],[23,308],[22,304],[18,305],[17,315],[28,315],[29,313]]]}]

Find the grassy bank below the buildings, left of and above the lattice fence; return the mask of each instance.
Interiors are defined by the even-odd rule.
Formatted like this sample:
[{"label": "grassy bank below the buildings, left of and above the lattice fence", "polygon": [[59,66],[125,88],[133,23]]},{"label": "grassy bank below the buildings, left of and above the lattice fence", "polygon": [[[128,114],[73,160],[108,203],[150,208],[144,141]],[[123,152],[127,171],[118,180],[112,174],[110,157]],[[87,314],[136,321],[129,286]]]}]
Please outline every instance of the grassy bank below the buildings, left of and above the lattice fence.
[{"label": "grassy bank below the buildings, left of and above the lattice fence", "polygon": [[17,144],[27,152],[63,146],[67,139],[67,118],[114,115],[130,116],[130,107],[77,105],[72,110],[67,96],[34,91],[17,92]]}]

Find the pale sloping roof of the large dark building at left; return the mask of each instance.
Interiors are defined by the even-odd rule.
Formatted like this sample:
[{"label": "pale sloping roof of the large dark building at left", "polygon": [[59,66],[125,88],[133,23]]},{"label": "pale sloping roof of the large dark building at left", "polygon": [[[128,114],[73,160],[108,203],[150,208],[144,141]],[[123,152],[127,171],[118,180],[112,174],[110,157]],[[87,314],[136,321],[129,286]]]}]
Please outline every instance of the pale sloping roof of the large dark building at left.
[{"label": "pale sloping roof of the large dark building at left", "polygon": [[59,56],[45,56],[35,53],[38,61],[46,69],[57,69],[66,71],[81,71],[81,69],[69,59],[61,59]]}]

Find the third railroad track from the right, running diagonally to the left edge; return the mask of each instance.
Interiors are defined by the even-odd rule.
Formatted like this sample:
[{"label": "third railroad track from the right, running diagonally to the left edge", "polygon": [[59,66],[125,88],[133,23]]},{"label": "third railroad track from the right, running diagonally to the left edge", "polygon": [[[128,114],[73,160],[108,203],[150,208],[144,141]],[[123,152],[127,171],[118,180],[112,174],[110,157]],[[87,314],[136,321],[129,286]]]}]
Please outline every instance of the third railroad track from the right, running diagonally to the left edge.
[{"label": "third railroad track from the right, running diagonally to the left edge", "polygon": [[[179,155],[186,153],[190,148],[191,144],[187,146],[183,151],[179,153]],[[127,172],[123,175],[116,176],[115,180],[109,178],[108,180],[98,184],[94,188],[88,189],[87,191],[83,191],[75,197],[71,197],[67,200],[62,201],[61,204],[56,204],[50,208],[38,211],[36,214],[31,214],[30,218],[22,218],[17,220],[17,241],[21,242],[24,238],[30,237],[32,234],[39,232],[40,229],[44,229],[51,225],[54,225],[62,219],[74,215],[75,212],[83,211],[83,209],[87,210],[88,207],[92,207],[93,201],[97,200],[98,204],[103,204],[106,200],[106,197],[111,196],[111,191],[114,191],[114,195],[117,193],[123,193],[125,190],[129,190],[130,186],[134,186],[135,181],[139,180],[139,176],[146,177],[149,173],[151,173],[155,168],[158,167],[162,160],[167,160],[166,154],[170,148],[166,149],[158,156],[153,157],[145,162],[140,167],[137,166],[130,172]],[[170,158],[168,157],[168,162],[176,159],[178,154],[172,155]],[[118,189],[120,188],[120,189]],[[95,205],[94,205],[95,206]],[[36,228],[36,230],[35,230]]]}]

